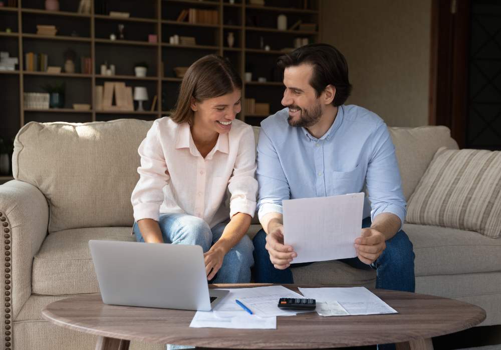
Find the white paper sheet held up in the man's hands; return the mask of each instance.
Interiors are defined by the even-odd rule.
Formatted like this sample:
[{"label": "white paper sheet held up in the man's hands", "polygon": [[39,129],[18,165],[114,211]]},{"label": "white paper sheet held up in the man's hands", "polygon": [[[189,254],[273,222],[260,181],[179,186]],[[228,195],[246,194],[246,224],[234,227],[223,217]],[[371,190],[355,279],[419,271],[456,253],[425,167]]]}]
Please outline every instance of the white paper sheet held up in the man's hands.
[{"label": "white paper sheet held up in the man's hands", "polygon": [[364,193],[289,199],[284,210],[284,243],[298,256],[293,263],[357,256],[355,238],[362,230]]}]

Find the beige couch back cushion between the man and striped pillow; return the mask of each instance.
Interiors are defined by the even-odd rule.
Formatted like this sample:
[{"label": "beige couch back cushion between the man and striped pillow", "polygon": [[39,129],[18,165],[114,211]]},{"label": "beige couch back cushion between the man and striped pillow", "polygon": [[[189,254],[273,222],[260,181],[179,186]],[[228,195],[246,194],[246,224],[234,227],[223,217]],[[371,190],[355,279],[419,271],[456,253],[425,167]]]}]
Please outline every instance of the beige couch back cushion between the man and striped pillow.
[{"label": "beige couch back cushion between the man and striped pillow", "polygon": [[437,149],[442,146],[457,149],[457,143],[450,137],[450,130],[446,126],[388,129],[395,145],[402,190],[405,199],[409,200]]}]

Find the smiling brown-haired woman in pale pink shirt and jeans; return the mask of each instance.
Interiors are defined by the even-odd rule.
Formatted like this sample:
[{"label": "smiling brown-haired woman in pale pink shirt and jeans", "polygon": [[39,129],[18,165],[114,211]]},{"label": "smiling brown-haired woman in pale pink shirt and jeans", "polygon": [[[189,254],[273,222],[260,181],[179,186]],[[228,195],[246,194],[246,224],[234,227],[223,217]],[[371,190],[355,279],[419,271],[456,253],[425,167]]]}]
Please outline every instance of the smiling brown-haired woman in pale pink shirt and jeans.
[{"label": "smiling brown-haired woman in pale pink shirt and jeans", "polygon": [[241,87],[226,59],[194,62],[172,115],[155,120],[139,146],[131,197],[137,241],[201,245],[214,283],[249,282],[254,264],[245,232],[256,210],[256,150],[252,127],[235,119]]}]

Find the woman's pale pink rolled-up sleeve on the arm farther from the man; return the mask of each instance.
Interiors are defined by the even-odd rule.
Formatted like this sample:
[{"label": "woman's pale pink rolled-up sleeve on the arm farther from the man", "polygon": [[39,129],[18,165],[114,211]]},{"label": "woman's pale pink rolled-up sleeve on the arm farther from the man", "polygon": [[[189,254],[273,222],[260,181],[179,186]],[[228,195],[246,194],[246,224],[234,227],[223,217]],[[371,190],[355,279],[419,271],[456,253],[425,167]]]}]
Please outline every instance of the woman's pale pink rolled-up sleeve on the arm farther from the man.
[{"label": "woman's pale pink rolled-up sleeve on the arm farther from the man", "polygon": [[141,166],[137,168],[137,181],[131,195],[134,219],[151,218],[158,221],[163,202],[163,187],[168,183],[167,164],[159,140],[158,123],[155,121],[138,148]]}]

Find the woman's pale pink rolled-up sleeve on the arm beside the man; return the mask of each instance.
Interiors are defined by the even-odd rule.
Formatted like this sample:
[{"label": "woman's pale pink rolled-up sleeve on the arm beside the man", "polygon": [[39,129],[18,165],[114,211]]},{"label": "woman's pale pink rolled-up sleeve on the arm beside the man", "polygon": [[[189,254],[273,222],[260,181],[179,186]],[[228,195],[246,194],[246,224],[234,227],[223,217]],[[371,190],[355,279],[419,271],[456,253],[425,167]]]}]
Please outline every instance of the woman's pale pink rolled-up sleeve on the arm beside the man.
[{"label": "woman's pale pink rolled-up sleeve on the arm beside the man", "polygon": [[254,217],[256,213],[256,194],[258,181],[256,174],[256,141],[251,126],[246,127],[238,145],[233,172],[228,181],[229,216],[237,212]]}]

